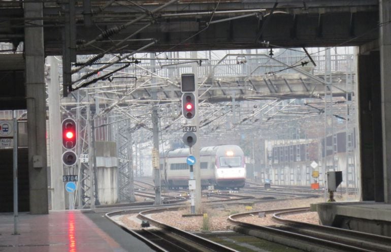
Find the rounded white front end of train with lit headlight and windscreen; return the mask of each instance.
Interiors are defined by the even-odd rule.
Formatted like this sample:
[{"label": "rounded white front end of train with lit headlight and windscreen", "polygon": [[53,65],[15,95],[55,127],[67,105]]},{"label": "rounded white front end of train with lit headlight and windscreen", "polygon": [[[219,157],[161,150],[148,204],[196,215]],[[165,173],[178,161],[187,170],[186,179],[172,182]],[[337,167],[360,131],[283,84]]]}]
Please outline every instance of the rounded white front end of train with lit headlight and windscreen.
[{"label": "rounded white front end of train with lit headlight and windscreen", "polygon": [[243,150],[237,145],[220,146],[216,151],[216,185],[221,188],[240,188],[246,180]]}]

